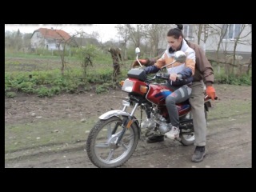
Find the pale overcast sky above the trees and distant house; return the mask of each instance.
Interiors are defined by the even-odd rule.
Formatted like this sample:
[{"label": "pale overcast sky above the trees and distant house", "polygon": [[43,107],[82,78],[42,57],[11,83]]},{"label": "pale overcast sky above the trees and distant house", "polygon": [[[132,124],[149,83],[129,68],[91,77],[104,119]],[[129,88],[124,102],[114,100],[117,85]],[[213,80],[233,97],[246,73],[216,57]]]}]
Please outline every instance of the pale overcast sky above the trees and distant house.
[{"label": "pale overcast sky above the trees and distant house", "polygon": [[117,24],[5,24],[5,31],[20,30],[22,34],[33,33],[34,30],[38,30],[40,27],[51,28],[56,30],[65,30],[70,35],[75,34],[76,31],[83,30],[87,34],[91,34],[93,31],[97,31],[102,38],[102,42],[110,40],[110,38],[118,39],[117,30],[114,28]]}]

